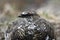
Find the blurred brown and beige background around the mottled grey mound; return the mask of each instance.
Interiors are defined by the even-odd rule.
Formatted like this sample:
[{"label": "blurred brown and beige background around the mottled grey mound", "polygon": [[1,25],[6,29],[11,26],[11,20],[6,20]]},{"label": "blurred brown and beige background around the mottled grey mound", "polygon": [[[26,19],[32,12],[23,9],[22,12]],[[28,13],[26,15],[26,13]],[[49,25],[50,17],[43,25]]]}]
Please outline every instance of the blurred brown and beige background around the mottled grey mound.
[{"label": "blurred brown and beige background around the mottled grey mound", "polygon": [[54,25],[56,39],[60,40],[60,0],[0,0],[0,38],[9,23],[29,8]]}]

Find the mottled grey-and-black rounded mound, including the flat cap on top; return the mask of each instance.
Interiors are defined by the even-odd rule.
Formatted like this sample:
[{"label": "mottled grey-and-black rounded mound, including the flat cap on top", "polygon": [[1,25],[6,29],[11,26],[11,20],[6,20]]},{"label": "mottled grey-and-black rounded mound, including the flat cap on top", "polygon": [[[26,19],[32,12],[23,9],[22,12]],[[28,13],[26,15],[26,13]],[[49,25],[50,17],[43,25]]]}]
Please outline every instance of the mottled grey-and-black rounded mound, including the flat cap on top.
[{"label": "mottled grey-and-black rounded mound, including the flat cap on top", "polygon": [[[8,29],[9,30],[9,29]],[[35,12],[23,12],[18,20],[13,22],[11,40],[53,40],[53,26]]]}]

